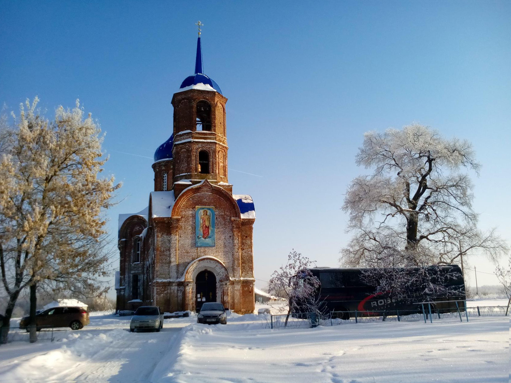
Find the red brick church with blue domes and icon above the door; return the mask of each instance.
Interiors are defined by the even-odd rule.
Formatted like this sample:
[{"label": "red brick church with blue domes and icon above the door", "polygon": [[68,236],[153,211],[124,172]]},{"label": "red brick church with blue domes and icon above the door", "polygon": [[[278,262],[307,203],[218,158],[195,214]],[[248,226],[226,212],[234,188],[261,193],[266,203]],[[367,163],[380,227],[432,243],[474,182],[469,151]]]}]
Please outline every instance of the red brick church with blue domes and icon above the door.
[{"label": "red brick church with blue domes and icon above the door", "polygon": [[227,178],[226,102],[203,73],[199,29],[195,75],[174,93],[173,132],[154,153],[149,204],[119,216],[118,310],[157,305],[175,312],[221,302],[253,312],[255,210]]}]

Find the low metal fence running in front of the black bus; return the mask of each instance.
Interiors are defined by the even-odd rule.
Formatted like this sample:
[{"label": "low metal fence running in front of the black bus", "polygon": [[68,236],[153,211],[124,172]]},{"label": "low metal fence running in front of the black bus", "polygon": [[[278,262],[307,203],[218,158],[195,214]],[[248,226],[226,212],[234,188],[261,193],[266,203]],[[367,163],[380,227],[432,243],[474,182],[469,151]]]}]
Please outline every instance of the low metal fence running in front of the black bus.
[{"label": "low metal fence running in front of the black bus", "polygon": [[[431,310],[431,311],[430,311]],[[432,305],[424,305],[417,310],[388,311],[350,311],[331,312],[328,314],[299,313],[299,314],[270,314],[265,316],[265,328],[311,328],[316,326],[335,326],[345,323],[375,323],[375,322],[426,322],[442,319],[469,320],[471,317],[503,317],[506,316],[506,306],[476,306],[459,309],[435,309]]]}]

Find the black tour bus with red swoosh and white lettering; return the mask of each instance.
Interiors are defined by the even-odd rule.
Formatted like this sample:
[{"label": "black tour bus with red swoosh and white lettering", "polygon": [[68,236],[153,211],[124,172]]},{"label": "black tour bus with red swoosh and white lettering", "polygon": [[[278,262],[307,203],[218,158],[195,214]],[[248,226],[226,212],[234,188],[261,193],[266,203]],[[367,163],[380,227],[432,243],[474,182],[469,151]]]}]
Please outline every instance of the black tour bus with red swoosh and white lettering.
[{"label": "black tour bus with red swoosh and white lettering", "polygon": [[[465,286],[461,269],[457,265],[452,266],[431,266],[438,268],[440,273],[452,273],[447,287],[455,294],[445,297],[436,297],[432,301],[441,302],[432,304],[433,310],[438,312],[455,312],[457,306],[455,301],[466,299]],[[409,268],[408,270],[419,270]],[[321,286],[317,289],[314,300],[318,302],[319,309],[323,314],[334,312],[333,316],[341,319],[350,319],[357,312],[359,316],[386,316],[422,313],[422,308],[416,303],[422,302],[421,295],[417,292],[410,292],[410,299],[407,303],[398,302],[385,293],[377,293],[375,286],[363,281],[362,272],[364,269],[336,269],[336,268],[311,268],[312,274],[319,279]],[[444,302],[442,302],[444,301]],[[447,301],[447,302],[446,302]],[[460,310],[463,304],[458,302]],[[295,313],[304,313],[306,307],[298,304]],[[426,310],[428,310],[426,306]]]}]

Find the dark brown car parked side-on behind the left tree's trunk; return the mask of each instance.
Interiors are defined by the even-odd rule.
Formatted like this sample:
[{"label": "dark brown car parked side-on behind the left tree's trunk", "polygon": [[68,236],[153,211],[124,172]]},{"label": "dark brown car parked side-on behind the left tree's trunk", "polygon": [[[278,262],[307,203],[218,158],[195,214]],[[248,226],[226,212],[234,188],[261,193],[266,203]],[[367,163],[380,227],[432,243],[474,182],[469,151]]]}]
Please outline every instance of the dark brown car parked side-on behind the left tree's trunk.
[{"label": "dark brown car parked side-on behind the left tree's trunk", "polygon": [[[71,327],[79,330],[90,323],[89,313],[83,307],[52,307],[36,312],[37,331],[41,328]],[[19,328],[29,331],[30,317],[23,317]]]}]

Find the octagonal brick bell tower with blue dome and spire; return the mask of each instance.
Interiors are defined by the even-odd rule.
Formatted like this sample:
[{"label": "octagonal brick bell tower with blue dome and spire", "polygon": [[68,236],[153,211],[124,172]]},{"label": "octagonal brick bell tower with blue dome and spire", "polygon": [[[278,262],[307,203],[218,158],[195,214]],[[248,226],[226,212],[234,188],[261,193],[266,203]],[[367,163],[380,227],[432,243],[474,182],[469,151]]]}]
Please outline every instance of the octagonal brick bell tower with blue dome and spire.
[{"label": "octagonal brick bell tower with blue dome and spire", "polygon": [[195,75],[187,77],[172,97],[172,188],[176,198],[204,179],[233,192],[227,179],[226,102],[218,84],[203,73],[199,29]]}]

